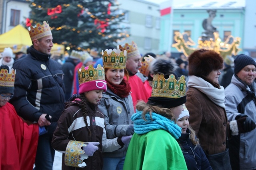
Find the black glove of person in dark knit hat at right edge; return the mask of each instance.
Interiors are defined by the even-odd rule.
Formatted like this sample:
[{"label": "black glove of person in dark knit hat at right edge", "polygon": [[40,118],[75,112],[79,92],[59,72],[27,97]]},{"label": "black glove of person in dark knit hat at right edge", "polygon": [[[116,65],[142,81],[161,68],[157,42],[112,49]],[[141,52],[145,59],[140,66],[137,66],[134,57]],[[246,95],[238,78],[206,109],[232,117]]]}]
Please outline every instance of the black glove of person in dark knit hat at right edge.
[{"label": "black glove of person in dark knit hat at right edge", "polygon": [[256,127],[254,121],[246,114],[237,115],[236,122],[239,133],[250,132]]}]

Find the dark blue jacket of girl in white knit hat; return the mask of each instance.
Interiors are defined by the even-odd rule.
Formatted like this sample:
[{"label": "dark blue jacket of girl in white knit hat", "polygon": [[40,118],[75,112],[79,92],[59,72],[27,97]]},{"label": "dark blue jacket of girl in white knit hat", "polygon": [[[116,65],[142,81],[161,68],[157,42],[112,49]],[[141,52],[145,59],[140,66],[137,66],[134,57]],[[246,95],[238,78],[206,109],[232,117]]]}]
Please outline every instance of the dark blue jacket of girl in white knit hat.
[{"label": "dark blue jacket of girl in white knit hat", "polygon": [[188,170],[212,170],[208,159],[200,145],[194,145],[190,140],[190,131],[181,134],[177,140],[180,144]]}]

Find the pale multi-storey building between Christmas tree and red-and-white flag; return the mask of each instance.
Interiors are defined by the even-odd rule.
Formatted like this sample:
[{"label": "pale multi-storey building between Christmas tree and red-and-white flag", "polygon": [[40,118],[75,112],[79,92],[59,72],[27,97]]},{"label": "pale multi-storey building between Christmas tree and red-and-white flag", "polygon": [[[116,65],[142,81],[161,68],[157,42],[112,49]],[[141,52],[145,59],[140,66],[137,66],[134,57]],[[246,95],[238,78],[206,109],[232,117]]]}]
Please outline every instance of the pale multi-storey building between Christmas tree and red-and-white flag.
[{"label": "pale multi-storey building between Christmas tree and red-and-white flag", "polygon": [[122,27],[130,27],[130,37],[119,43],[134,41],[142,55],[152,52],[158,54],[160,39],[160,12],[159,5],[144,0],[121,0],[120,10],[125,13],[126,19],[120,23]]}]

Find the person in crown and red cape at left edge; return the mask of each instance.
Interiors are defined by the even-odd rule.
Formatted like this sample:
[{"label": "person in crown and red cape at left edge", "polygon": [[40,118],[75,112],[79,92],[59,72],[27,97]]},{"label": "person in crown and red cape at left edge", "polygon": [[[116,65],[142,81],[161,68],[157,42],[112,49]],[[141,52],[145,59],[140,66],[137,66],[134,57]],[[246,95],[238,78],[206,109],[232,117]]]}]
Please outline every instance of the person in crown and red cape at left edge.
[{"label": "person in crown and red cape at left edge", "polygon": [[0,170],[32,170],[38,124],[28,125],[8,103],[14,94],[15,71],[0,66]]}]

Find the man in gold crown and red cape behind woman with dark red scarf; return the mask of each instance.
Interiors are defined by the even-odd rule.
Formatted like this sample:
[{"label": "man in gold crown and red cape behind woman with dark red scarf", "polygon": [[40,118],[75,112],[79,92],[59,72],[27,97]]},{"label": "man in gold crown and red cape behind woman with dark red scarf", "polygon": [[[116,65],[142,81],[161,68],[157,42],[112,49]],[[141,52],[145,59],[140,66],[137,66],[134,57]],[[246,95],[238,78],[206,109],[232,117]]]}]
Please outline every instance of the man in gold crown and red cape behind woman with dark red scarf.
[{"label": "man in gold crown and red cape behind woman with dark red scarf", "polygon": [[134,110],[136,110],[136,104],[138,100],[143,100],[144,102],[148,101],[148,96],[146,89],[144,88],[144,84],[142,80],[136,75],[139,68],[142,66],[140,61],[140,52],[138,50],[137,44],[132,41],[132,44],[125,43],[124,47],[119,45],[119,49],[121,51],[127,51],[127,61],[126,61],[126,69],[129,72],[128,82],[132,88],[132,102],[134,106]]}]

